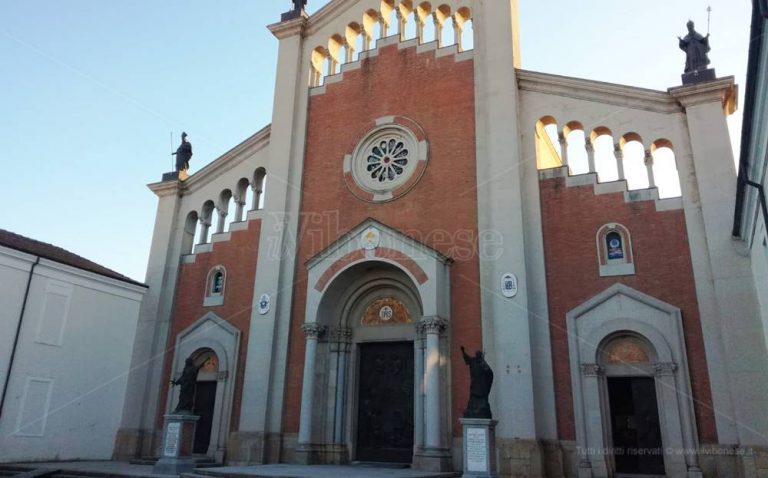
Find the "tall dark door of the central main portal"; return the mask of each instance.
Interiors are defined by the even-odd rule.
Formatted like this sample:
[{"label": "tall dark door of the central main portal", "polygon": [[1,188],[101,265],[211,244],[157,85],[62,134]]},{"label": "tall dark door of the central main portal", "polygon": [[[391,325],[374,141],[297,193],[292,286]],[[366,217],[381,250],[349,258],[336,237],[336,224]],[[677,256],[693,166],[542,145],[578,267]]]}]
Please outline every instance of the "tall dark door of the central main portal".
[{"label": "tall dark door of the central main portal", "polygon": [[411,463],[413,343],[360,346],[357,460]]}]

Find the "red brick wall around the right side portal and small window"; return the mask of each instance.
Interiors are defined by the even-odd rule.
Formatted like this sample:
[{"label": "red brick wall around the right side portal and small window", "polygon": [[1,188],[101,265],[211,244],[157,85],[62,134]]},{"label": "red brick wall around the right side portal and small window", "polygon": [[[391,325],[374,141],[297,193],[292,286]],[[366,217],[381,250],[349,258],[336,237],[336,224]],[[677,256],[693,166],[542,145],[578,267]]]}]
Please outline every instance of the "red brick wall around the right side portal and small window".
[{"label": "red brick wall around the right side portal and small window", "polygon": [[[543,180],[540,186],[560,439],[575,439],[566,313],[622,283],[682,311],[699,438],[702,443],[716,443],[684,212],[658,212],[654,201],[627,203],[623,193],[596,195],[591,185],[566,187],[563,178]],[[629,229],[635,275],[600,277],[595,235],[607,223]]]}]

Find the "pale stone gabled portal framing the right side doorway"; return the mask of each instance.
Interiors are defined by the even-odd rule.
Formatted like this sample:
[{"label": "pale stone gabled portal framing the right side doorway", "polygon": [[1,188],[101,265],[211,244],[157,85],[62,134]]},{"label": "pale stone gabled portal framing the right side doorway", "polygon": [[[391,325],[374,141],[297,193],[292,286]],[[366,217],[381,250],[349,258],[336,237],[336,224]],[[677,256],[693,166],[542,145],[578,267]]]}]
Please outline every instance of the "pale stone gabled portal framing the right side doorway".
[{"label": "pale stone gabled portal framing the right side doorway", "polygon": [[653,447],[666,476],[702,476],[680,309],[615,284],[570,311],[567,323],[579,476],[614,476],[626,466],[607,453],[621,445],[612,419],[631,415],[617,403],[625,392],[642,401],[634,411],[658,422],[649,430],[660,434]]}]

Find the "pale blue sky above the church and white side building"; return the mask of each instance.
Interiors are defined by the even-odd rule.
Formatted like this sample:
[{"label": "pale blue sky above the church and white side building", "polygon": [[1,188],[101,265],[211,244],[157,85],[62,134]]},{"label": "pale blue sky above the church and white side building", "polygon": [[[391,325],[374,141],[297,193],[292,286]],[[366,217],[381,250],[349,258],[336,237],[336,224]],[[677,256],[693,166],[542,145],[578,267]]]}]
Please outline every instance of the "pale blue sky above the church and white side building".
[{"label": "pale blue sky above the church and white side building", "polygon": [[[496,0],[501,1],[501,0]],[[309,0],[310,13],[327,1]],[[574,7],[578,5],[578,7]],[[707,31],[744,91],[749,0],[520,0],[522,67],[666,90]],[[156,197],[187,131],[192,172],[269,124],[289,0],[0,0],[0,229],[144,280]],[[741,111],[731,117],[738,143]]]}]

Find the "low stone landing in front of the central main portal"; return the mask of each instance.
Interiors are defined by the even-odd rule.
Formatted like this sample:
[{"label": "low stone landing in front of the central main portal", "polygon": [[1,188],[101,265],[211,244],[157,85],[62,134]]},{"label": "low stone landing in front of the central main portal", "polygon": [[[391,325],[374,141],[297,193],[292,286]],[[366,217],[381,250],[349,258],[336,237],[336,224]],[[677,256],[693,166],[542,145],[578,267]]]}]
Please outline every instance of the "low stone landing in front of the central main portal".
[{"label": "low stone landing in front of the central main portal", "polygon": [[[201,470],[197,471],[198,474]],[[243,478],[453,478],[460,473],[429,473],[408,468],[375,468],[369,466],[299,466],[261,465],[208,468],[207,476]]]}]

